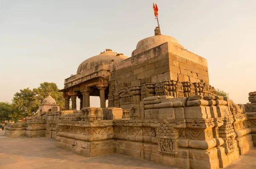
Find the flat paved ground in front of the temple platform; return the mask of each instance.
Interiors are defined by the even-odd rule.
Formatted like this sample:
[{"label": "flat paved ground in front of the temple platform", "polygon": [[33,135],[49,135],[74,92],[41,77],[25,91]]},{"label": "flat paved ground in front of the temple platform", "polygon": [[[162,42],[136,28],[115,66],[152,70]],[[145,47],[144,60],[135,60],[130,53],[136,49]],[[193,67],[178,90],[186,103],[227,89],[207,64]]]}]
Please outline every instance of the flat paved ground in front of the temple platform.
[{"label": "flat paved ground in front of the temple platform", "polygon": [[[9,138],[0,131],[0,168],[33,169],[177,169],[153,161],[145,161],[121,154],[88,158],[56,146],[51,138]],[[33,149],[33,152],[29,152]],[[256,168],[256,148],[249,150],[225,169]],[[178,162],[178,161],[177,161]]]}]

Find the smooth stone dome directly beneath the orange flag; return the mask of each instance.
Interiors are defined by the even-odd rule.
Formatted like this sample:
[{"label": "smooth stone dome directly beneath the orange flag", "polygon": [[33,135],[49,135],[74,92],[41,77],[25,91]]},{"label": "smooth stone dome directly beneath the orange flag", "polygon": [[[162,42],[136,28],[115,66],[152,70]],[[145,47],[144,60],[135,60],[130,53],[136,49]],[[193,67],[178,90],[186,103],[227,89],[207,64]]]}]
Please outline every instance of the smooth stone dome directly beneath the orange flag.
[{"label": "smooth stone dome directly beneath the orange flag", "polygon": [[137,43],[136,49],[133,51],[132,56],[142,53],[144,51],[147,51],[151,48],[154,48],[158,45],[161,45],[165,42],[169,42],[172,43],[173,45],[176,45],[180,48],[184,47],[182,45],[180,45],[180,43],[177,41],[177,39],[167,36],[167,35],[155,35],[152,37],[147,37],[145,39],[140,40]]}]

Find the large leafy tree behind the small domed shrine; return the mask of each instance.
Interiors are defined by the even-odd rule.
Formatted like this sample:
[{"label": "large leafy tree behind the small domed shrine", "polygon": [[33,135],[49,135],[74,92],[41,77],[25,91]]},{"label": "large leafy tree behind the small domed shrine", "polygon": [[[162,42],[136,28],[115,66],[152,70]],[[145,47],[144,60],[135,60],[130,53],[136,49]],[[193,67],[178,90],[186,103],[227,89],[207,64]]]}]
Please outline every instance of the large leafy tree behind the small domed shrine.
[{"label": "large leafy tree behind the small domed shrine", "polygon": [[12,104],[14,111],[9,117],[17,121],[26,116],[36,115],[38,108],[42,101],[49,96],[49,94],[56,100],[56,103],[63,107],[64,98],[58,92],[58,87],[55,83],[44,82],[38,88],[34,89],[21,89],[20,92],[15,93]]}]

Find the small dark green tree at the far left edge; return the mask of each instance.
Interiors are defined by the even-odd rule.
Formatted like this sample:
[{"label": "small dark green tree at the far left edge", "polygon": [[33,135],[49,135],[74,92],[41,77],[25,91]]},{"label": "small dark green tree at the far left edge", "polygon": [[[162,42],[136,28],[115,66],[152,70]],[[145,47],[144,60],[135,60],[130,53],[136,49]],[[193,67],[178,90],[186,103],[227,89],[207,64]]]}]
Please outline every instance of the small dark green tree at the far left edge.
[{"label": "small dark green tree at the far left edge", "polygon": [[0,123],[9,121],[9,115],[14,112],[13,105],[8,102],[0,102]]}]

